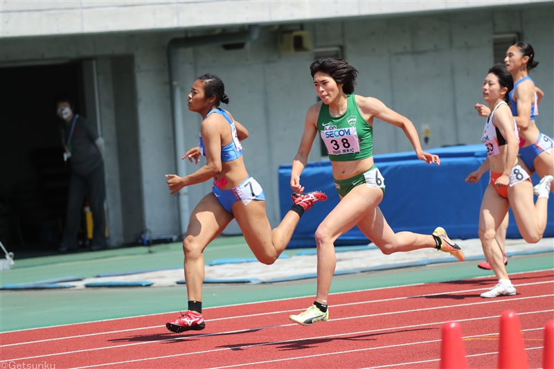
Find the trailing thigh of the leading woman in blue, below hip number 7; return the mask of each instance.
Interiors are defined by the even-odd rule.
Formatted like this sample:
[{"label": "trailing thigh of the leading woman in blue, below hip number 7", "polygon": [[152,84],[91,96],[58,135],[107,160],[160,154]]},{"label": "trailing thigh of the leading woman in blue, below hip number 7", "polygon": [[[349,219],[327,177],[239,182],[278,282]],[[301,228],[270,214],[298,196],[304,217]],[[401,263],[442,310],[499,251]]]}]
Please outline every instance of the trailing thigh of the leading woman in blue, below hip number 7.
[{"label": "trailing thigh of the leading woman in blue, below hip number 7", "polygon": [[[248,205],[242,201],[233,204],[233,214],[244,235],[244,240],[254,249],[273,249],[271,243],[271,224],[265,212],[266,201],[252,200]],[[256,254],[256,251],[254,251]]]}]

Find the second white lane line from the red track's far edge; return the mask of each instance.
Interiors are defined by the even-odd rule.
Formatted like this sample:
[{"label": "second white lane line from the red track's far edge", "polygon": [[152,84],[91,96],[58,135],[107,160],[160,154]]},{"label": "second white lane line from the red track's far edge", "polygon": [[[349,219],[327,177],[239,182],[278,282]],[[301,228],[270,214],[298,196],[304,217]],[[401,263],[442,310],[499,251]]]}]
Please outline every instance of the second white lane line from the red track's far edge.
[{"label": "second white lane line from the red track's far edge", "polygon": [[[552,283],[554,280],[547,280],[544,282],[530,282],[530,283],[522,283],[520,285],[517,285],[518,287],[521,286],[531,286],[531,285],[542,285],[545,283]],[[342,306],[348,306],[348,305],[360,305],[360,304],[368,304],[368,303],[386,303],[388,301],[395,301],[395,300],[407,300],[409,298],[422,298],[427,296],[440,296],[440,295],[450,295],[450,294],[461,294],[465,292],[474,292],[474,291],[481,291],[482,288],[478,289],[463,289],[460,291],[449,291],[449,292],[439,292],[436,294],[426,294],[426,295],[415,295],[415,296],[402,296],[402,297],[395,297],[395,298],[383,298],[381,300],[369,300],[369,301],[360,301],[357,303],[344,303],[344,304],[338,304],[338,305],[332,305],[333,307],[342,307]],[[253,316],[264,316],[264,315],[271,315],[271,314],[285,314],[289,312],[296,312],[298,309],[289,309],[289,310],[281,310],[277,312],[265,312],[265,313],[257,313],[257,314],[247,314],[247,315],[238,315],[238,316],[226,316],[223,318],[214,318],[210,319],[209,321],[225,321],[229,319],[240,319],[240,318],[251,318]],[[333,319],[337,320],[337,319]],[[0,347],[9,347],[9,346],[17,346],[17,345],[28,345],[30,343],[42,343],[42,342],[48,342],[48,341],[59,341],[62,339],[75,339],[75,338],[82,338],[82,337],[89,337],[89,336],[99,336],[102,334],[115,334],[115,333],[121,333],[121,332],[132,332],[136,330],[150,330],[155,328],[162,328],[165,327],[165,325],[152,325],[150,327],[137,327],[137,328],[129,328],[127,330],[115,330],[115,331],[107,331],[107,332],[98,332],[98,333],[90,333],[90,334],[78,334],[75,336],[65,336],[65,337],[56,337],[54,339],[42,339],[37,341],[27,341],[27,342],[19,342],[19,343],[10,343],[8,345],[0,345]],[[12,332],[20,332],[20,331],[12,331]],[[4,332],[7,333],[7,332]]]}]

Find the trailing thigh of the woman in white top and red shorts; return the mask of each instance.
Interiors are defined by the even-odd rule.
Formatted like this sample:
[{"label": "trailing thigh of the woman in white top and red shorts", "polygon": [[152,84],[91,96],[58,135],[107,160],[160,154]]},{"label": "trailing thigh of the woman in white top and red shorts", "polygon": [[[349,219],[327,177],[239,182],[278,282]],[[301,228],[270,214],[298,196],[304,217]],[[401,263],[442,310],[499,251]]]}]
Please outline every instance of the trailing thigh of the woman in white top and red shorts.
[{"label": "trailing thigh of the woman in white top and red shorts", "polygon": [[521,232],[537,228],[537,211],[533,198],[533,183],[523,181],[508,188],[508,199],[514,213],[517,228]]}]

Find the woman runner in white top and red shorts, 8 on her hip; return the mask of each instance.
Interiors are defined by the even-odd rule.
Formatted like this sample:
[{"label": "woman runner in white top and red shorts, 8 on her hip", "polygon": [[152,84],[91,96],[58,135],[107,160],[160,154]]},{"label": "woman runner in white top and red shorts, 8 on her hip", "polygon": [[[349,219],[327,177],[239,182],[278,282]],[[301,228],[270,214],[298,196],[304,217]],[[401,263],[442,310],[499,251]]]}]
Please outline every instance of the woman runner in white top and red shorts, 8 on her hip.
[{"label": "woman runner in white top and red shorts, 8 on her hip", "polygon": [[[497,245],[497,229],[512,208],[519,232],[524,240],[537,243],[546,228],[548,195],[553,176],[544,177],[533,188],[525,164],[518,159],[518,127],[508,107],[508,93],[514,86],[512,75],[501,65],[495,64],[483,83],[483,100],[491,110],[481,141],[487,147],[488,160],[476,172],[490,167],[490,183],[483,195],[479,216],[479,238],[483,252],[499,282],[481,297],[492,298],[515,295],[516,289],[503,263],[501,249]],[[475,173],[475,172],[474,172]],[[479,176],[481,177],[481,176]],[[476,183],[479,178],[470,174],[467,182]],[[533,193],[539,197],[533,204]]]}]

